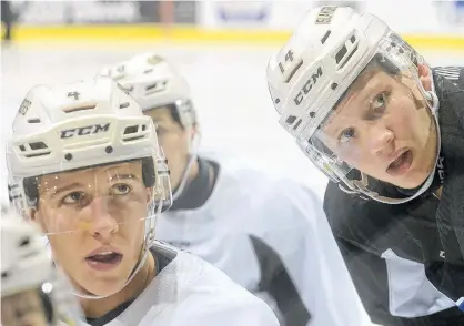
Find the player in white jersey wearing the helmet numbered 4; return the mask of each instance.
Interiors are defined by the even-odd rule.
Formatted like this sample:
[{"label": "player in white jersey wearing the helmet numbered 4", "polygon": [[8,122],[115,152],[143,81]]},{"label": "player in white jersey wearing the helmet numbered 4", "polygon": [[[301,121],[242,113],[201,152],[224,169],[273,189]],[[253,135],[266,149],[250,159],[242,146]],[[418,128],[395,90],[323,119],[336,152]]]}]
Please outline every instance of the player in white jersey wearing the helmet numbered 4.
[{"label": "player in white jersey wearing the helmet numbered 4", "polygon": [[276,325],[224,273],[154,240],[171,205],[154,124],[110,78],[37,86],[13,121],[16,207],[41,226],[88,325]]}]

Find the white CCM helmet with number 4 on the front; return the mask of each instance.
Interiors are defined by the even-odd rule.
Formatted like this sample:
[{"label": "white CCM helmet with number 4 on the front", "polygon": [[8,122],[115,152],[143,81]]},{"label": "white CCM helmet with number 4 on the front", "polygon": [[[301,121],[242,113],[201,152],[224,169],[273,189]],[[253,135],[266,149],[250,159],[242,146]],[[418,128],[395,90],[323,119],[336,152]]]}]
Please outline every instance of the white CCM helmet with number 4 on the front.
[{"label": "white CCM helmet with number 4 on the front", "polygon": [[[154,220],[155,212],[172,202],[169,170],[152,120],[108,77],[33,88],[13,121],[6,152],[10,197],[22,215],[37,208],[40,176],[137,160],[142,162],[144,185],[153,189],[147,218]],[[72,231],[57,226],[49,232]]]}]

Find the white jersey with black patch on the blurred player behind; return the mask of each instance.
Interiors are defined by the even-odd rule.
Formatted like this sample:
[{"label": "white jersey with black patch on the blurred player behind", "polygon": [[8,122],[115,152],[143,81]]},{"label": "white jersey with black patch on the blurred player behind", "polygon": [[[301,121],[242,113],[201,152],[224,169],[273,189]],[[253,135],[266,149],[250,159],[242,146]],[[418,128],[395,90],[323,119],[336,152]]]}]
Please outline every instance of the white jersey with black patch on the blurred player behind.
[{"label": "white jersey with black patch on the blurred player behind", "polygon": [[314,193],[233,165],[221,165],[203,206],[161,214],[157,238],[224,271],[281,325],[370,325]]}]

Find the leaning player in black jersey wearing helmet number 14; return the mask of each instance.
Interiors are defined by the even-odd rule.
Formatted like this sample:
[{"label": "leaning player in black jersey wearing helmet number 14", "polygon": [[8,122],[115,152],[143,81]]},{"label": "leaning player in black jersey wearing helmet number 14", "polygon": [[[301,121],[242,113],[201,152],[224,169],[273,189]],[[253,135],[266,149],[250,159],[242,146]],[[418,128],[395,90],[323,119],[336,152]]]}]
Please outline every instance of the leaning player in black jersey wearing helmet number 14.
[{"label": "leaning player in black jersey wearing helmet number 14", "polygon": [[337,7],[270,60],[280,123],[331,179],[325,213],[375,323],[464,325],[463,71]]}]

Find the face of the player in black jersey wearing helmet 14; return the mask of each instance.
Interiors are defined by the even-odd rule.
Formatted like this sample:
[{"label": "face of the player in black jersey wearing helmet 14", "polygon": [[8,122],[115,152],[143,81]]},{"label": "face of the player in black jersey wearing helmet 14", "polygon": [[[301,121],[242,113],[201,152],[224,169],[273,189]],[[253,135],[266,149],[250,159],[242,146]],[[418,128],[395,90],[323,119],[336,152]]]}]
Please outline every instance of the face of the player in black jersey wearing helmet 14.
[{"label": "face of the player in black jersey wearing helmet 14", "polygon": [[377,180],[421,185],[434,166],[436,128],[415,81],[377,69],[356,83],[324,125],[325,145]]}]

